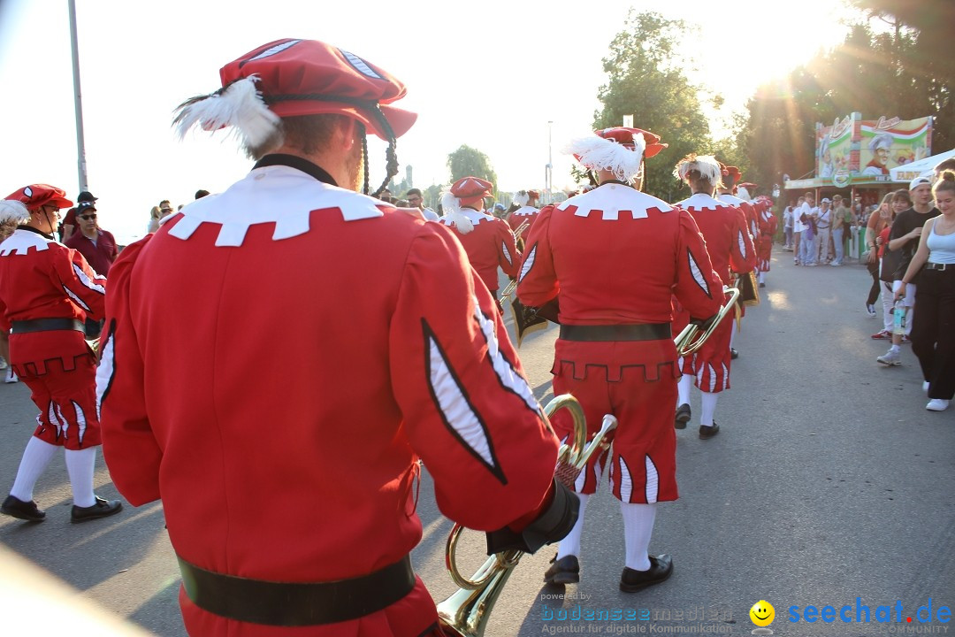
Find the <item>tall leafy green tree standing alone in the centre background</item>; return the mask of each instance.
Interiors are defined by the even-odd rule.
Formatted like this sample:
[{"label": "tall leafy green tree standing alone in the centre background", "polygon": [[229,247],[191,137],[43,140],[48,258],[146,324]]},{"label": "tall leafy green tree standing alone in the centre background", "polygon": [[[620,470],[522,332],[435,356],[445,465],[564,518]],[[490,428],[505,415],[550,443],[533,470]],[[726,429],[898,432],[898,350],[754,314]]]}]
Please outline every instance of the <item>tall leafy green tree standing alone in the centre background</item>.
[{"label": "tall leafy green tree standing alone in the centre background", "polygon": [[707,154],[711,148],[700,90],[683,72],[690,60],[676,50],[691,36],[682,20],[631,10],[604,58],[608,77],[598,94],[604,108],[594,117],[595,127],[608,128],[633,115],[635,126],[657,133],[669,144],[647,160],[644,179],[645,191],[667,201],[673,201],[681,187],[672,176],[676,162],[688,153]]}]

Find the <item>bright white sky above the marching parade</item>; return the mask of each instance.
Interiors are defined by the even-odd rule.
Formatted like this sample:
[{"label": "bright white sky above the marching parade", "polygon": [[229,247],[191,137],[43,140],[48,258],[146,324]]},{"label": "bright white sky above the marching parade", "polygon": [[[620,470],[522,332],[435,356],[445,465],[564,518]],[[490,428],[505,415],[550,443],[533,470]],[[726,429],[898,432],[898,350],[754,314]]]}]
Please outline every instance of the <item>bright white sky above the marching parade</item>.
[{"label": "bright white sky above the marching parade", "polygon": [[[419,117],[398,140],[396,180],[412,165],[414,185],[446,182],[447,155],[466,143],[488,155],[501,189],[516,191],[543,187],[549,147],[555,187],[571,184],[571,159],[561,151],[590,130],[605,82],[601,59],[630,6],[703,22],[685,44],[699,60],[695,79],[712,84],[716,64],[734,62],[738,72],[718,80],[727,108],[713,114],[716,130],[760,81],[835,46],[846,31],[846,11],[832,0],[802,0],[788,11],[736,0],[732,18],[710,17],[718,5],[703,0],[608,2],[592,11],[562,0],[329,4],[76,0],[86,166],[100,225],[129,241],[145,232],[160,200],[187,203],[199,188],[219,192],[244,175],[250,162],[231,138],[221,131],[179,141],[172,111],[218,89],[225,63],[271,40],[324,40],[405,82],[408,96],[397,105]],[[781,17],[790,34],[780,38]],[[0,86],[0,196],[47,182],[75,198],[67,0],[0,3]],[[384,178],[383,148],[371,144],[375,185]]]}]

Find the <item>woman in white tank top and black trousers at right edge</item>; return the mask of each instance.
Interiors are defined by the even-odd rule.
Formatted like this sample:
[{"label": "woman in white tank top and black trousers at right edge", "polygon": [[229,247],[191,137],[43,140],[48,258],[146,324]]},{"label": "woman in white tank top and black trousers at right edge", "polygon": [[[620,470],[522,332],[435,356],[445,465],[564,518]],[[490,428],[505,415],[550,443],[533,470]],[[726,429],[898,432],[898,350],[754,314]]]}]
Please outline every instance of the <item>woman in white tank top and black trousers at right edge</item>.
[{"label": "woman in white tank top and black trousers at right edge", "polygon": [[955,171],[944,171],[932,192],[942,214],[925,222],[896,298],[904,296],[906,284],[922,270],[915,291],[919,311],[912,325],[912,351],[919,357],[930,398],[925,409],[941,412],[955,395]]}]

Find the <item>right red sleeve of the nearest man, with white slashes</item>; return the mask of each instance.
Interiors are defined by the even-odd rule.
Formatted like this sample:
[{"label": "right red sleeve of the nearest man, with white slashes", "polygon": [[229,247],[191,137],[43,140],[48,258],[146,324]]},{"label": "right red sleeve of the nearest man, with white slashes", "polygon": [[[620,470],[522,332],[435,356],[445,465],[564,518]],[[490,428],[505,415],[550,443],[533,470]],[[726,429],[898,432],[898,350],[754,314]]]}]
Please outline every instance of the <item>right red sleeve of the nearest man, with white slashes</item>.
[{"label": "right red sleeve of the nearest man, with white slashes", "polygon": [[414,238],[389,338],[393,393],[441,512],[486,531],[539,508],[558,440],[494,299],[440,224]]}]

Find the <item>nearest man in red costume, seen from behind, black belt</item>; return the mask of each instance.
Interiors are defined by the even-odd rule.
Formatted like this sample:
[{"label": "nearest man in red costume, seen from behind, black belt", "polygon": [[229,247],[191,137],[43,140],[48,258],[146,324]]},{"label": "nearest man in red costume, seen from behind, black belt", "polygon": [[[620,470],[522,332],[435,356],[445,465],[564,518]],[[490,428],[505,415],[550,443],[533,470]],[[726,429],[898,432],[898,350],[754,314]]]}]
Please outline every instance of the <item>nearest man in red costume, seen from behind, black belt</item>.
[{"label": "nearest man in red costume, seen from behind, black belt", "polygon": [[221,77],[180,133],[234,127],[258,160],[110,270],[110,472],[161,497],[192,635],[439,634],[409,560],[417,458],[443,514],[534,550],[575,519],[558,440],[451,232],[355,192],[366,130],[397,169],[404,85],[294,39]]}]

